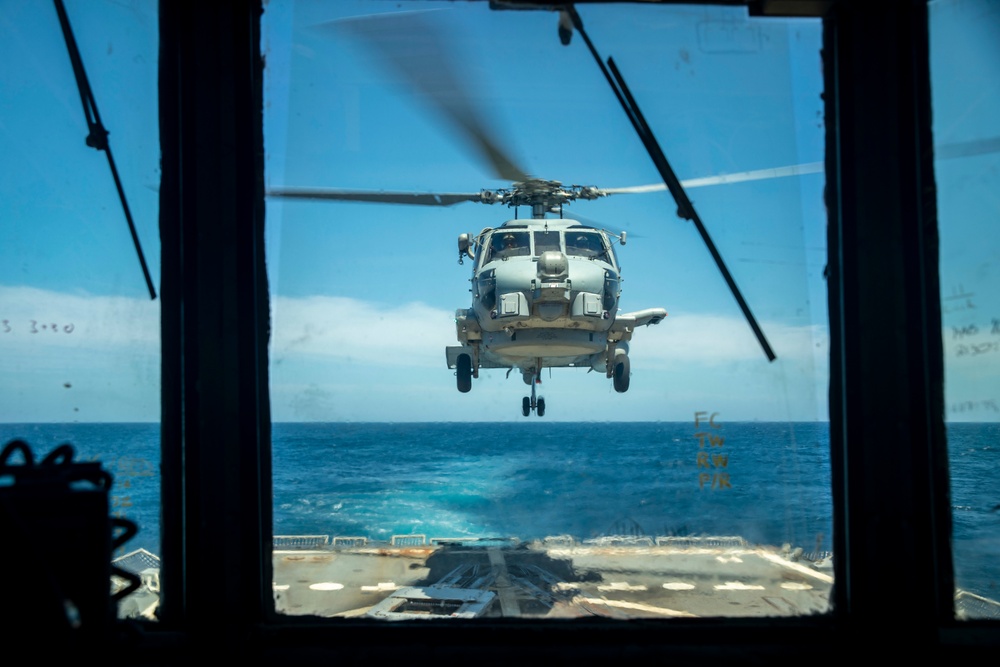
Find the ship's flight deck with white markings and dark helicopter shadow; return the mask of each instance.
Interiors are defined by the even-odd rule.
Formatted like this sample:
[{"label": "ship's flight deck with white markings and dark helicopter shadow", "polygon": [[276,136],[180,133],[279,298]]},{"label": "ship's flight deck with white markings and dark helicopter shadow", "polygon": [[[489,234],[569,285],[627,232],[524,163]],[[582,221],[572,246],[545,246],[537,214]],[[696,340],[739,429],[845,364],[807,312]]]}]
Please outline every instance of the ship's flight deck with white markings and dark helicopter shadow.
[{"label": "ship's flight deck with white markings and dark helicopter shadow", "polygon": [[[287,545],[293,546],[287,546]],[[396,536],[386,543],[275,538],[279,613],[420,618],[693,618],[824,614],[829,554],[739,537],[515,539]],[[284,546],[283,546],[284,545]],[[156,585],[120,605],[154,617]]]}]

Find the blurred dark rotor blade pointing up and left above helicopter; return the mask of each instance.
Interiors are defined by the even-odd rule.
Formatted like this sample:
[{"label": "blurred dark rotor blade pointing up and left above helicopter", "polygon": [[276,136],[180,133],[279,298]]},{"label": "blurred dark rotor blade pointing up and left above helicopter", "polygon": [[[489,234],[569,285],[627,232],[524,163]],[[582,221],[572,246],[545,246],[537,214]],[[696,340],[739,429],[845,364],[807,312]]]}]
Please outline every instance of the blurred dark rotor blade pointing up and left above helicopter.
[{"label": "blurred dark rotor blade pointing up and left above helicopter", "polygon": [[480,110],[467,95],[453,69],[456,59],[444,52],[448,38],[424,12],[378,14],[332,24],[338,32],[363,42],[390,67],[401,73],[438,111],[465,135],[493,173],[507,181],[529,176],[491,137]]}]

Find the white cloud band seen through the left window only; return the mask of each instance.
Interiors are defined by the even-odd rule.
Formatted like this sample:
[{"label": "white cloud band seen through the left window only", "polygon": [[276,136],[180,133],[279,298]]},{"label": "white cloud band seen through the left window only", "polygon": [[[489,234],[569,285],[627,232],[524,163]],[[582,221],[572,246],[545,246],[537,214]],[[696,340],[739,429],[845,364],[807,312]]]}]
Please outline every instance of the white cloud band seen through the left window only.
[{"label": "white cloud band seen through the left window only", "polygon": [[155,421],[160,303],[0,286],[0,421]]}]

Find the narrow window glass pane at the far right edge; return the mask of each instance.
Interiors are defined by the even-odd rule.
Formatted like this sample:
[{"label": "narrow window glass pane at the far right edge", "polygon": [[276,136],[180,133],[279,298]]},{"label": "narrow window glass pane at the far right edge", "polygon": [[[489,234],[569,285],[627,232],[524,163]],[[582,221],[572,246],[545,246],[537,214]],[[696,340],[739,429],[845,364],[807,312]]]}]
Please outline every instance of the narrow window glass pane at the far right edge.
[{"label": "narrow window glass pane at the far right edge", "polygon": [[930,3],[945,406],[960,617],[1000,617],[1000,6]]}]

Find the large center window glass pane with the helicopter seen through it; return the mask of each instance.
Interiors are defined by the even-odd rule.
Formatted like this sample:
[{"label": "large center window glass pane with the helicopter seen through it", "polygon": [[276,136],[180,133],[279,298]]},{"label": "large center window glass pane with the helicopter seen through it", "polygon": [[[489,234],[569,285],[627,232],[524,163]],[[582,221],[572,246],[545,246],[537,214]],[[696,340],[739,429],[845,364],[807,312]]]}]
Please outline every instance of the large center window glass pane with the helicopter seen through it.
[{"label": "large center window glass pane with the helicopter seen through it", "polygon": [[[266,6],[279,611],[828,611],[820,22],[578,7],[771,361],[665,189],[571,198],[663,182],[579,34],[550,11],[404,9]],[[388,61],[362,36],[387,20]],[[455,255],[460,234],[578,224],[621,266]]]}]

